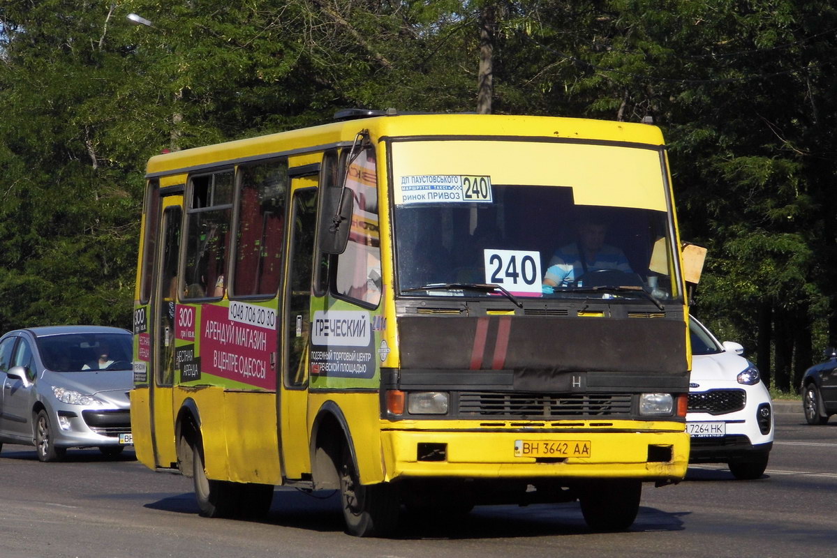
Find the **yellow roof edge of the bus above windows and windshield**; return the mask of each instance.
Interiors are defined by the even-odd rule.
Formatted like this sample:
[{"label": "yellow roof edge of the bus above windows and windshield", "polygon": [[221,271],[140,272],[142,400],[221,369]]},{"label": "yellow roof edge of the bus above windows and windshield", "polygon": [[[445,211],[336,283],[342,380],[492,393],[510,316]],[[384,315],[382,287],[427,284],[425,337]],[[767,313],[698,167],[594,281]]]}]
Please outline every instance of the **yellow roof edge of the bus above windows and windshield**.
[{"label": "yellow roof edge of the bus above windows and windshield", "polygon": [[655,125],[562,118],[556,116],[413,114],[342,120],[151,157],[147,175],[162,176],[195,168],[231,164],[259,156],[291,155],[351,144],[366,129],[373,140],[383,137],[550,138],[564,141],[618,142],[662,146]]}]

